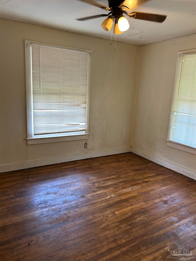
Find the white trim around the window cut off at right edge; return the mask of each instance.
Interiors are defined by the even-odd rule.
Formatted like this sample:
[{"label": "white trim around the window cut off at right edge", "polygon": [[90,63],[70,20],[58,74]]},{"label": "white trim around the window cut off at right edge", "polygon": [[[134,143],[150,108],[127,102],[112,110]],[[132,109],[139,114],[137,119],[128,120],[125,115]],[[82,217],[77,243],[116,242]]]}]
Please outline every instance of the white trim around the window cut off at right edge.
[{"label": "white trim around the window cut off at right edge", "polygon": [[[179,64],[179,57],[182,56],[183,54],[194,54],[196,52],[196,49],[191,49],[191,50],[184,50],[184,51],[179,51],[177,54],[177,63],[176,63],[176,69],[175,69],[175,80],[174,80],[174,88],[173,88],[173,97],[172,97],[172,103],[171,103],[171,108],[173,108],[173,103],[174,103],[174,93],[175,93],[175,84],[176,84],[176,79],[177,79],[177,71],[178,71],[178,64]],[[189,147],[184,144],[179,144],[177,142],[169,140],[170,137],[170,125],[171,125],[171,115],[172,115],[172,110],[170,112],[170,120],[169,120],[169,127],[168,127],[168,138],[166,140],[167,146],[172,147],[181,151],[186,151],[192,154],[196,155],[196,149],[193,147]]]}]

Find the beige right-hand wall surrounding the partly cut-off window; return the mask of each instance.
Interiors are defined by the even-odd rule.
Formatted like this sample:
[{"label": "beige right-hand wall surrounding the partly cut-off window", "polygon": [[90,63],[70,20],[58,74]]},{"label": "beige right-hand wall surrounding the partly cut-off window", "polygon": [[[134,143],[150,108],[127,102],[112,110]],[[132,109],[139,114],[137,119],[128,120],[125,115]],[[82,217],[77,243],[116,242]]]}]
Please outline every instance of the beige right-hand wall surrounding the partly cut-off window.
[{"label": "beige right-hand wall surrounding the partly cut-off window", "polygon": [[195,155],[166,145],[177,52],[194,49],[189,35],[140,47],[132,146],[195,171]]}]

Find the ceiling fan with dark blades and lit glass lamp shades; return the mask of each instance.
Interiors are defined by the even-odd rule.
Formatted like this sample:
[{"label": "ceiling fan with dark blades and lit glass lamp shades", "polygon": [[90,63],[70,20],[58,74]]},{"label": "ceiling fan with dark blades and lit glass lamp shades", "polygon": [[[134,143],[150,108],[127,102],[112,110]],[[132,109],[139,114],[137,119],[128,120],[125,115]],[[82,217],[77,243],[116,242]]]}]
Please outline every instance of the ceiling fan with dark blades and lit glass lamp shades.
[{"label": "ceiling fan with dark blades and lit glass lamp shades", "polygon": [[112,28],[113,21],[114,24],[114,34],[122,34],[126,30],[129,29],[129,22],[124,17],[123,14],[128,15],[130,18],[140,19],[145,21],[153,21],[162,23],[166,19],[166,15],[153,14],[153,13],[140,13],[140,12],[132,12],[127,13],[127,11],[131,11],[138,6],[141,6],[145,2],[150,0],[108,0],[108,6],[104,6],[100,3],[94,2],[93,0],[78,0],[82,2],[86,2],[90,5],[100,7],[101,9],[109,11],[108,14],[98,14],[94,16],[88,16],[83,18],[78,18],[78,21],[85,21],[88,19],[93,19],[97,17],[106,17],[107,18],[101,24],[101,27],[109,32]]}]

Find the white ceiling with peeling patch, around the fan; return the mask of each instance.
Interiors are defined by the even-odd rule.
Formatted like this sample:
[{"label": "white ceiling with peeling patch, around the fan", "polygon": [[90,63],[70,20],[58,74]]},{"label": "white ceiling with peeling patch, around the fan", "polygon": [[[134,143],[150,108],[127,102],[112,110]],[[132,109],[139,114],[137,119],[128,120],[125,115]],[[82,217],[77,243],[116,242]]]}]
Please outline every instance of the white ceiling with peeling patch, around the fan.
[{"label": "white ceiling with peeling patch, around the fan", "polygon": [[[107,0],[97,0],[108,6]],[[117,35],[117,40],[143,45],[196,32],[195,0],[151,0],[133,11],[167,15],[163,23],[134,20],[126,17],[130,28]],[[111,38],[111,32],[101,28],[105,17],[77,21],[91,15],[108,13],[99,7],[77,0],[0,0],[0,17],[64,31]],[[115,35],[112,33],[112,39]]]}]

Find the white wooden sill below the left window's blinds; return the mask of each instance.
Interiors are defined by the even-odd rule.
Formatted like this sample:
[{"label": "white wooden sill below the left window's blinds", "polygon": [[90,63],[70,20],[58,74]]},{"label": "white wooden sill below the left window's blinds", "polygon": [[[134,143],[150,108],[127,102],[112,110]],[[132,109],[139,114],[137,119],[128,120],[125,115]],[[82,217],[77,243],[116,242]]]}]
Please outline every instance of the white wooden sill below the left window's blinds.
[{"label": "white wooden sill below the left window's blinds", "polygon": [[89,134],[80,134],[72,136],[44,137],[44,138],[27,138],[27,145],[42,144],[51,142],[62,142],[71,140],[88,140]]}]

